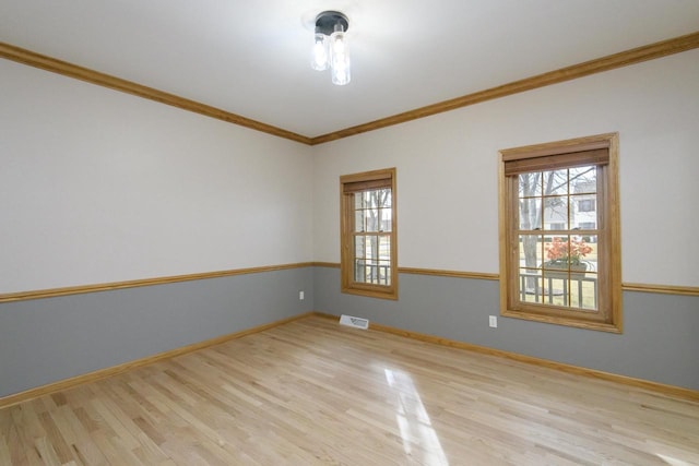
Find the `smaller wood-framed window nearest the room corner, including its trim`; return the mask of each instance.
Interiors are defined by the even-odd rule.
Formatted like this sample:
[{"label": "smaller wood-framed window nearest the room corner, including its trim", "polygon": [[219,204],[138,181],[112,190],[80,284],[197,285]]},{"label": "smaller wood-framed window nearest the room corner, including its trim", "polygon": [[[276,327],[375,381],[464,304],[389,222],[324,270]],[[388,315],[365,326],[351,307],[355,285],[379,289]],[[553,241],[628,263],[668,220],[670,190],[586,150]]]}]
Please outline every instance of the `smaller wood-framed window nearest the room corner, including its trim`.
[{"label": "smaller wood-framed window nearest the room corner, including its trim", "polygon": [[340,177],[342,291],[398,299],[395,168]]}]

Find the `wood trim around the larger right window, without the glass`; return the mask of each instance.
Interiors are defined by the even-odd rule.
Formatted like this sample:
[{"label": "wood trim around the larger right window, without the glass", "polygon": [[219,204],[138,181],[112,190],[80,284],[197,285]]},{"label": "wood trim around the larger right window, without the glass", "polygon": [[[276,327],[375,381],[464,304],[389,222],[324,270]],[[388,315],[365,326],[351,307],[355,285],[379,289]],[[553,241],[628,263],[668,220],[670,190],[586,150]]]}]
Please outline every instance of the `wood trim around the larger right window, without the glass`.
[{"label": "wood trim around the larger right window, without the glass", "polygon": [[[605,212],[601,216],[606,240],[602,242],[599,254],[606,258],[606,266],[601,276],[600,296],[601,314],[603,320],[589,319],[584,313],[576,311],[565,311],[560,308],[546,306],[513,306],[518,296],[519,274],[518,267],[511,266],[514,247],[512,246],[512,235],[514,228],[511,227],[517,216],[513,213],[512,175],[517,170],[511,167],[506,168],[508,162],[519,164],[522,171],[525,167],[542,166],[546,158],[555,160],[557,165],[560,159],[557,155],[576,154],[587,151],[604,150],[608,156],[597,157],[595,165],[603,167],[603,180],[599,181],[597,208]],[[509,318],[524,319],[536,322],[573,326],[580,328],[604,331],[611,333],[621,333],[621,265],[620,265],[620,222],[619,222],[619,193],[618,193],[618,133],[606,133],[587,138],[579,138],[566,141],[557,141],[545,144],[536,144],[523,147],[514,147],[499,152],[498,164],[498,188],[499,188],[499,248],[500,248],[500,314]],[[597,154],[599,155],[599,154]],[[531,162],[530,162],[531,160]],[[531,165],[528,165],[531,164]]]}]

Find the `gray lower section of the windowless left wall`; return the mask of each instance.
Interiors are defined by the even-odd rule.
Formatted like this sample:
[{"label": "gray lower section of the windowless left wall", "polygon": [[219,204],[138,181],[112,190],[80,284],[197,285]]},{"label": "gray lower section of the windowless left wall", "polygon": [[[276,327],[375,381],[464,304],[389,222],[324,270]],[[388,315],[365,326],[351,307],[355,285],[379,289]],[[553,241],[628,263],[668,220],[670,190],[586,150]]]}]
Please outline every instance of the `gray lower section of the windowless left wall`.
[{"label": "gray lower section of the windowless left wall", "polygon": [[0,396],[311,311],[312,285],[304,267],[0,304]]}]

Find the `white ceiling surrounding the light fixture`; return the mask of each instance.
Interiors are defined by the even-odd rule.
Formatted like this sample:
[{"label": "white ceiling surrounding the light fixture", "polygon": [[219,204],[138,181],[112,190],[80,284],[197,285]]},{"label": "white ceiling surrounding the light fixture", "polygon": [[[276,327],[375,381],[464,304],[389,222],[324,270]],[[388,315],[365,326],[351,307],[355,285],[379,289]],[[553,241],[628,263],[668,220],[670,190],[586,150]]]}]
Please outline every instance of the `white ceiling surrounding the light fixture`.
[{"label": "white ceiling surrounding the light fixture", "polygon": [[[346,86],[310,69],[324,10]],[[0,1],[0,41],[310,138],[697,31],[699,0]]]}]

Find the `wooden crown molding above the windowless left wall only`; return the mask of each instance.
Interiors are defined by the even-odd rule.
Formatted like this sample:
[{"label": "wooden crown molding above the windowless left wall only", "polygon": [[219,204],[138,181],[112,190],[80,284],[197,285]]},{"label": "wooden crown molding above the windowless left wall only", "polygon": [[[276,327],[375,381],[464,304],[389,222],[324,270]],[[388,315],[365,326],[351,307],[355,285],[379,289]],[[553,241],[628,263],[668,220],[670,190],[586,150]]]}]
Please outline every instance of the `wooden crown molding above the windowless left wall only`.
[{"label": "wooden crown molding above the windowless left wall only", "polygon": [[293,133],[291,131],[273,127],[271,124],[262,123],[260,121],[251,120],[239,115],[230,113],[220,108],[200,104],[194,100],[189,100],[174,94],[168,94],[163,91],[146,87],[131,81],[122,80],[120,77],[79,67],[76,64],[72,64],[62,60],[57,60],[51,57],[46,57],[44,55],[25,50],[9,44],[0,43],[0,57],[7,58],[8,60],[16,61],[19,63],[28,64],[29,67],[39,68],[42,70],[51,71],[54,73],[85,81],[91,84],[97,84],[98,86],[108,87],[115,91],[121,91],[123,93],[147,98],[150,100],[159,101],[161,104],[170,105],[182,110],[193,111],[194,113],[215,118],[217,120],[238,124],[240,127],[261,131],[263,133],[272,134],[279,138],[300,142],[303,144],[310,144],[310,138],[304,136],[301,134]]}]

